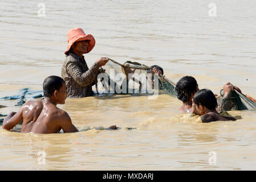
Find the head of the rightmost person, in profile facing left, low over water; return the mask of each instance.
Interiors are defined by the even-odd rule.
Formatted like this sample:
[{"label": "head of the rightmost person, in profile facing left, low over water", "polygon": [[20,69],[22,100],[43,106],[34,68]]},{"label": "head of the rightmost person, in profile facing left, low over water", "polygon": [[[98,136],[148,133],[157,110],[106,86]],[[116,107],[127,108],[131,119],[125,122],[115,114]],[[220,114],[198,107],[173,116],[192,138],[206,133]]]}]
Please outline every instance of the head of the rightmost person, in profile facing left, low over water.
[{"label": "head of the rightmost person, in profile facing left, low over water", "polygon": [[216,111],[217,100],[214,93],[209,89],[199,90],[193,97],[193,105],[199,115],[204,115],[210,111]]}]

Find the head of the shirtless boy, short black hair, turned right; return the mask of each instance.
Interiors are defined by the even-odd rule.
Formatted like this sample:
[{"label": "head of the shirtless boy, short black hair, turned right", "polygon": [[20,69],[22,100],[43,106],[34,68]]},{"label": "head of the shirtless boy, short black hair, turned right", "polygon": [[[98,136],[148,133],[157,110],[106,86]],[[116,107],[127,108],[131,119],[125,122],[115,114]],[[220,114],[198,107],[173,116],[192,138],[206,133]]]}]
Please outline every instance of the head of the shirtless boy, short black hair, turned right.
[{"label": "head of the shirtless boy, short black hair, turned right", "polygon": [[59,76],[49,76],[43,82],[43,94],[56,104],[65,104],[67,87],[65,81]]}]

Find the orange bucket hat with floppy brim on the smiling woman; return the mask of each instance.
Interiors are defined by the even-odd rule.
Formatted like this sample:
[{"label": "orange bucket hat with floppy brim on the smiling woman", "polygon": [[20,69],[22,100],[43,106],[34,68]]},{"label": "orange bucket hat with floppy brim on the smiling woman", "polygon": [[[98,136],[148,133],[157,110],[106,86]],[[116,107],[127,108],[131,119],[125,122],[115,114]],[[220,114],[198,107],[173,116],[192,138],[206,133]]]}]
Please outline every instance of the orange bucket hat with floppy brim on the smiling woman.
[{"label": "orange bucket hat with floppy brim on the smiling woman", "polygon": [[87,47],[87,51],[86,53],[90,52],[92,50],[92,48],[94,48],[95,46],[95,39],[94,36],[88,34],[86,35],[83,31],[82,28],[72,28],[70,31],[67,32],[67,51],[65,52],[65,54],[68,53],[68,51],[70,50],[71,46],[78,41],[81,40],[89,40],[89,45]]}]

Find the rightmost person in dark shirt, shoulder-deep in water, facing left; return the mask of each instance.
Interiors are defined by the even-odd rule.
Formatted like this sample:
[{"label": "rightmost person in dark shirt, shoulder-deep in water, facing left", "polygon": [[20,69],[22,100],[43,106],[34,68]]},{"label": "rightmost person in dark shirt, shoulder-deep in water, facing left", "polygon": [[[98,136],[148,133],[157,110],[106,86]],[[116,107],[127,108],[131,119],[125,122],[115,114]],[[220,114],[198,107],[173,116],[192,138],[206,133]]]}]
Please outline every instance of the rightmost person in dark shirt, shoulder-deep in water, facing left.
[{"label": "rightmost person in dark shirt, shoulder-deep in water, facing left", "polygon": [[216,96],[209,89],[202,89],[194,94],[193,107],[196,109],[197,114],[200,115],[200,119],[203,123],[237,120],[226,112],[226,115],[217,112],[218,104]]}]

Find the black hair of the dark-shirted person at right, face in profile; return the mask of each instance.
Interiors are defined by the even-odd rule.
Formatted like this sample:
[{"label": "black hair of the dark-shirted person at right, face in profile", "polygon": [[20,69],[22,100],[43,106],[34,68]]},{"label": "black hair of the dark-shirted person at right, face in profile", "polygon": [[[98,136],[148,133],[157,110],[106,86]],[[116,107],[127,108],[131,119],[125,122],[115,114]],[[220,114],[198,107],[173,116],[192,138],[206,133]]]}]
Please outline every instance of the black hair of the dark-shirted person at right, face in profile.
[{"label": "black hair of the dark-shirted person at right, face in profile", "polygon": [[203,105],[209,110],[216,110],[218,107],[214,93],[209,89],[199,90],[193,97],[194,104]]}]

